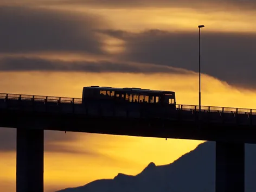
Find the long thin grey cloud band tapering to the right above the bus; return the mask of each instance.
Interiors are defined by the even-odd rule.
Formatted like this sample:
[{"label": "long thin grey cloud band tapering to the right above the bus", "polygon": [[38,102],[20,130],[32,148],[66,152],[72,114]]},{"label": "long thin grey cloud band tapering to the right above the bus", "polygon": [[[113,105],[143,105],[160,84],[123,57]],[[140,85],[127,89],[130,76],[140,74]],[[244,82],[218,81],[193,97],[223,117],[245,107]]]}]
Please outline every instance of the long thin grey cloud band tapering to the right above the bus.
[{"label": "long thin grey cloud band tapering to the right above the bus", "polygon": [[4,57],[0,59],[0,71],[56,71],[56,72],[127,72],[127,73],[175,73],[189,71],[148,63],[126,63],[112,61],[61,61],[37,57]]}]

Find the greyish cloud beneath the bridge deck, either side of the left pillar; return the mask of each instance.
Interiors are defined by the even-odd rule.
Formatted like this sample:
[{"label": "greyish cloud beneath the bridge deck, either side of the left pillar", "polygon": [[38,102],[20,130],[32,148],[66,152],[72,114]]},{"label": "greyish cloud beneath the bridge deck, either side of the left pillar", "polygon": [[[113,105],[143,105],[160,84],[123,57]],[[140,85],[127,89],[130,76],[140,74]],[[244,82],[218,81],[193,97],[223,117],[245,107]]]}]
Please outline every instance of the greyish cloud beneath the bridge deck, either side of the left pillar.
[{"label": "greyish cloud beneath the bridge deck, either side of the left pillar", "polygon": [[[79,133],[81,134],[81,133]],[[89,135],[86,133],[84,137]],[[65,153],[84,153],[90,156],[98,156],[100,154],[86,149],[77,149],[68,147],[63,143],[75,142],[78,139],[78,133],[60,132],[60,131],[44,131],[44,151],[65,152]],[[16,151],[16,129],[0,127],[0,152]]]}]

